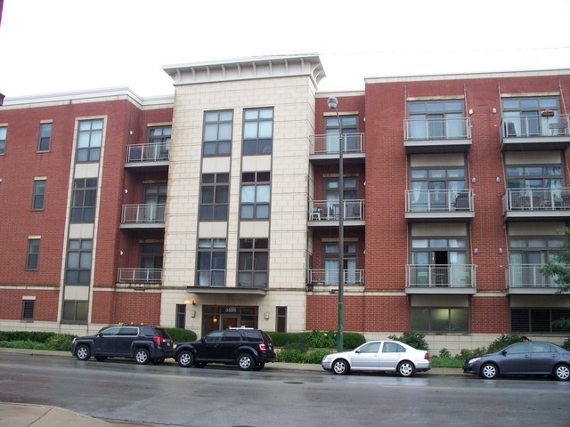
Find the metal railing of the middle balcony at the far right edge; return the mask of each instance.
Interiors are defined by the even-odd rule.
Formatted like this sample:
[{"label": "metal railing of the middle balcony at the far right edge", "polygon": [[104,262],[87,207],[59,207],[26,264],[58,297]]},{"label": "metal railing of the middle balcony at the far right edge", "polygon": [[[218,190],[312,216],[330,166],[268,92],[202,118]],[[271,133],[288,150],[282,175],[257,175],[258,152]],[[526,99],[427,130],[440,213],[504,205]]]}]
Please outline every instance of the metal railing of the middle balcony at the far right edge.
[{"label": "metal railing of the middle balcony at the far right edge", "polygon": [[507,189],[503,212],[570,210],[570,189]]}]

